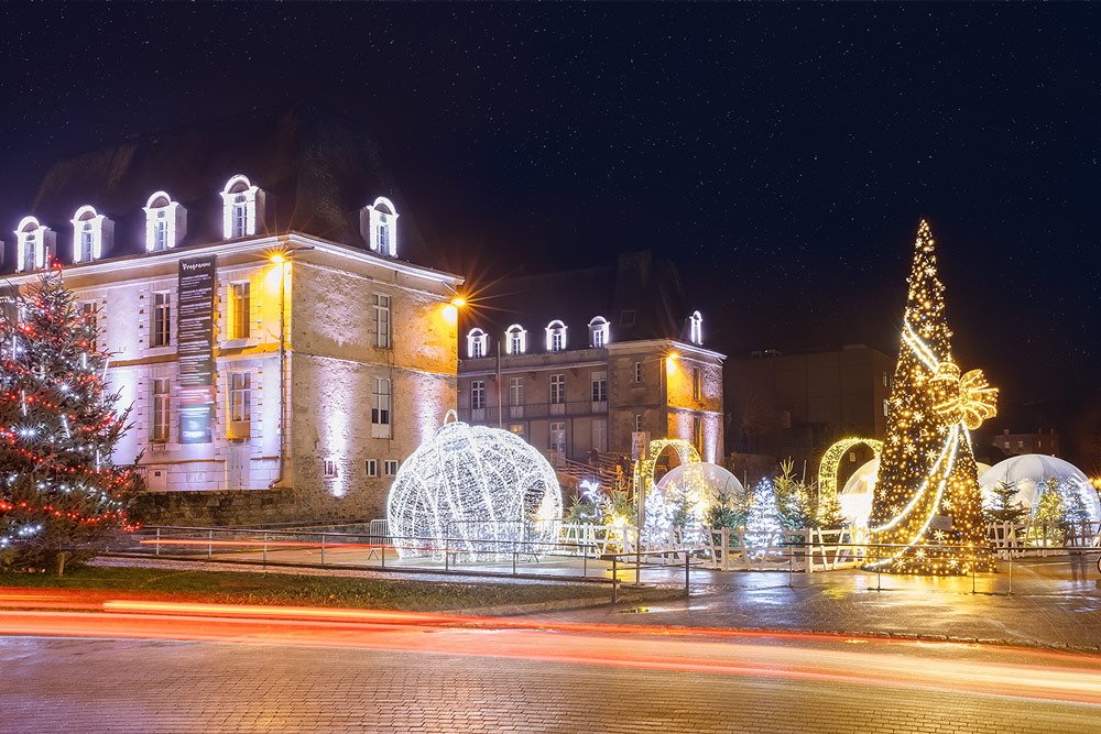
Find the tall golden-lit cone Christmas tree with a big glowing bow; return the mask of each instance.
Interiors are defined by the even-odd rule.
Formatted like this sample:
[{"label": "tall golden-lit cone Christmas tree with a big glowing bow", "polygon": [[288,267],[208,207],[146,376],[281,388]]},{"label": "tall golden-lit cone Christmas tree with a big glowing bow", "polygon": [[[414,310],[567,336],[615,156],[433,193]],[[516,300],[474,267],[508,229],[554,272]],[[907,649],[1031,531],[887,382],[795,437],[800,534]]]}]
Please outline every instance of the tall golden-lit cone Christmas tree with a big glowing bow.
[{"label": "tall golden-lit cone Christmas tree with a big glowing bow", "polygon": [[998,391],[952,361],[933,233],[917,230],[887,437],[869,518],[870,566],[897,573],[988,568],[969,430],[994,415]]}]

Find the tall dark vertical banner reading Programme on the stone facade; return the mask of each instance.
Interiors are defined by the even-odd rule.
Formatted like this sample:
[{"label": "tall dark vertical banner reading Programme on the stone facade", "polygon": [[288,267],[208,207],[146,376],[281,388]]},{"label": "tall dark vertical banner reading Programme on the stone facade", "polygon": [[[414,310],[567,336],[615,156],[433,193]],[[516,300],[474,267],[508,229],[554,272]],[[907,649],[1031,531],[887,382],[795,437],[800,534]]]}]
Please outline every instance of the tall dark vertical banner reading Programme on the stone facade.
[{"label": "tall dark vertical banner reading Programme on the stone facade", "polygon": [[214,289],[217,259],[179,261],[176,307],[179,442],[209,443],[214,427]]}]

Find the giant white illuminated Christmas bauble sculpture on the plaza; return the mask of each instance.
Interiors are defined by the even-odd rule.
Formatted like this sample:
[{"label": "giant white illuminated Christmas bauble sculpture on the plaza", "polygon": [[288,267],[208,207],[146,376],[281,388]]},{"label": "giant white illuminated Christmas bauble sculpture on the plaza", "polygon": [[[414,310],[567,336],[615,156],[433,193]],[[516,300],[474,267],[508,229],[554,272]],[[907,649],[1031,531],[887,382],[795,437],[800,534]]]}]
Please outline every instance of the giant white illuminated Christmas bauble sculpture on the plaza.
[{"label": "giant white illuminated Christmas bauble sculpture on the plaza", "polygon": [[397,554],[438,560],[446,548],[487,560],[553,546],[563,502],[546,458],[510,431],[446,420],[391,486],[386,508]]}]

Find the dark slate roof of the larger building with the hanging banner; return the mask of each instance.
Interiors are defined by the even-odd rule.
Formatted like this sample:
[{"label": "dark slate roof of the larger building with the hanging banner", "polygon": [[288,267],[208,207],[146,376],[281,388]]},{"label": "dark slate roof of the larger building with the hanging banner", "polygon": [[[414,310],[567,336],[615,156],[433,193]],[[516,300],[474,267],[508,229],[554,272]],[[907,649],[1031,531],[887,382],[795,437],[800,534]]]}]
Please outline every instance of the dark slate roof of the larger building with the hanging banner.
[{"label": "dark slate roof of the larger building with the hanging banner", "polygon": [[[28,213],[57,232],[62,262],[72,262],[69,220],[83,205],[115,221],[115,244],[105,259],[134,254],[144,251],[142,207],[163,189],[187,209],[181,244],[216,242],[222,239],[219,193],[235,174],[264,190],[260,234],[294,230],[366,248],[359,210],[385,196],[400,215],[400,259],[430,264],[424,262],[428,253],[414,218],[370,132],[308,105],[258,109],[135,136],[61,161],[46,173]],[[4,270],[13,269],[13,260]]]}]

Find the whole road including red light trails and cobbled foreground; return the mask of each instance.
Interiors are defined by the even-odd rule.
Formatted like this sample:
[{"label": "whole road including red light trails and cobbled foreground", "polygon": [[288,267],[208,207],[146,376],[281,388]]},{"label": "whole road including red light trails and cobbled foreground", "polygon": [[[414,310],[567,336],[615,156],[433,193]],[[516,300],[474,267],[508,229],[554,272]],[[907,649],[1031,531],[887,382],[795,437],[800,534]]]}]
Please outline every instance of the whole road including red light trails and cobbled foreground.
[{"label": "whole road including red light trails and cobbled foreground", "polygon": [[1097,656],[802,633],[265,614],[3,613],[0,731],[933,734],[1095,732],[1101,721]]}]

